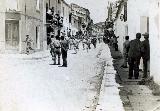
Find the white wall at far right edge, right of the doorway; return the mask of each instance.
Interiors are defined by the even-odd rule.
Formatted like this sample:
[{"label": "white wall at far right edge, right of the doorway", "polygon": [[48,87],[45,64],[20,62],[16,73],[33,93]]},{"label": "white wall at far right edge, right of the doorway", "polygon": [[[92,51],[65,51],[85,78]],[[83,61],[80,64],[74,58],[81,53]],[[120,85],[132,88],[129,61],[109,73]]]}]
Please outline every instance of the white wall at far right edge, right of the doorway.
[{"label": "white wall at far right edge, right of the doorway", "polygon": [[[158,6],[159,1],[159,6]],[[150,69],[155,82],[160,84],[160,0],[150,4]]]}]

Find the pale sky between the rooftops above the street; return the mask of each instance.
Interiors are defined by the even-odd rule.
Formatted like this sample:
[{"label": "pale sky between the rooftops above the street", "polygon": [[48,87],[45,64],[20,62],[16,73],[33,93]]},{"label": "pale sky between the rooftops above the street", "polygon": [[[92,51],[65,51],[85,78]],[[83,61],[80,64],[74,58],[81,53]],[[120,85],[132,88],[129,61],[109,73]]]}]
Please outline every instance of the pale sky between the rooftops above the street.
[{"label": "pale sky between the rooftops above the street", "polygon": [[[76,3],[90,10],[94,23],[104,22],[107,18],[107,3],[109,0],[65,0],[67,3]],[[110,0],[112,1],[112,0]]]}]

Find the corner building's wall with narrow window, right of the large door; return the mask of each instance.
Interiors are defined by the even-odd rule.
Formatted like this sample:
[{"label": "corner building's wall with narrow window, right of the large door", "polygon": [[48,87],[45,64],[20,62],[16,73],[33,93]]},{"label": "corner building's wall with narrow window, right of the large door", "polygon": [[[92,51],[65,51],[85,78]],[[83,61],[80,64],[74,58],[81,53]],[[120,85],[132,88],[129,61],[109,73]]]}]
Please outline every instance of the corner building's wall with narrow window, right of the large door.
[{"label": "corner building's wall with narrow window, right of the large door", "polygon": [[[21,40],[21,50],[20,52],[25,52],[25,43],[23,42],[26,35],[29,34],[33,40],[32,47],[35,50],[44,49],[44,35],[43,35],[43,0],[40,0],[39,10],[37,10],[37,0],[27,0],[19,1],[19,10],[21,11],[20,20],[20,40]],[[39,38],[36,44],[36,27],[39,28]],[[39,44],[39,45],[38,45]]]}]

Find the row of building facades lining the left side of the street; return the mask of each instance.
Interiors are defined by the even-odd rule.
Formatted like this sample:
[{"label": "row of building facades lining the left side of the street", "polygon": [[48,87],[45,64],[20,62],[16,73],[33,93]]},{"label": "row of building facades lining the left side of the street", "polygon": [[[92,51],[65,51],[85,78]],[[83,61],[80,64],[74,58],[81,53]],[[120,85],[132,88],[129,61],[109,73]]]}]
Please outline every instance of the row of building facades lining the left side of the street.
[{"label": "row of building facades lining the left side of the street", "polygon": [[[31,46],[35,51],[45,50],[50,32],[55,35],[85,34],[90,22],[88,9],[69,5],[64,0],[1,0],[0,12],[1,53],[25,53],[26,35],[32,39]],[[57,26],[49,23],[48,13],[52,19],[59,15],[62,26],[58,27],[59,21]]]}]

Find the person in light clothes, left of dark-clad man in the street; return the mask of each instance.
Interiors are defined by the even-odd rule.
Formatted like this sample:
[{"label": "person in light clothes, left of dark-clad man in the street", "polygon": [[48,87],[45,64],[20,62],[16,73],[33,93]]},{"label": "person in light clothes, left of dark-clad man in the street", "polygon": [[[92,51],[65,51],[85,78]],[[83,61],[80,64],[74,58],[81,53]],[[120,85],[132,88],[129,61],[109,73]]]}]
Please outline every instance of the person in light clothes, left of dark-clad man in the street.
[{"label": "person in light clothes, left of dark-clad man in the street", "polygon": [[60,65],[60,56],[61,56],[61,51],[60,51],[60,41],[59,41],[59,36],[56,36],[56,39],[52,38],[52,42],[51,42],[51,55],[52,55],[52,60],[53,60],[53,64],[56,65],[56,58],[58,56],[58,64]]}]

